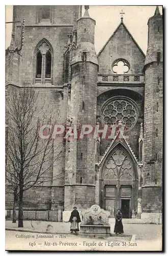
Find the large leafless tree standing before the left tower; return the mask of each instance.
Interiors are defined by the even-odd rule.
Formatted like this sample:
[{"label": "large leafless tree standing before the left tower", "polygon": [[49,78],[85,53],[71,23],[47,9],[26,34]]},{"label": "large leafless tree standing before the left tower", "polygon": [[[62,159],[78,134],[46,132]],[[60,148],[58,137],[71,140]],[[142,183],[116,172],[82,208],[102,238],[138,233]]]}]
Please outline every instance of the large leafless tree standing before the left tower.
[{"label": "large leafless tree standing before the left tower", "polygon": [[18,227],[23,227],[24,191],[65,176],[65,172],[54,177],[50,175],[54,161],[64,153],[65,146],[58,144],[55,148],[53,125],[48,138],[40,138],[40,127],[44,123],[53,124],[58,120],[59,113],[57,117],[52,111],[45,113],[44,108],[39,106],[38,93],[33,88],[13,89],[7,99],[6,111],[6,180],[14,195],[14,209],[18,197]]}]

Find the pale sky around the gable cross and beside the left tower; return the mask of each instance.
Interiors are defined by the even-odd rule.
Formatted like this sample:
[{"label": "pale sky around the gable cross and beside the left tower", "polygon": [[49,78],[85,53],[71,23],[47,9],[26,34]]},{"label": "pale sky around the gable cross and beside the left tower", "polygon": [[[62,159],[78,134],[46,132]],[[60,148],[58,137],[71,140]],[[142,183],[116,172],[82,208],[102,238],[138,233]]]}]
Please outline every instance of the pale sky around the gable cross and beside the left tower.
[{"label": "pale sky around the gable cross and beside the left tower", "polygon": [[[125,12],[123,22],[143,52],[147,52],[148,19],[154,15],[156,6],[96,6],[89,7],[90,17],[96,20],[95,50],[98,53],[121,21],[120,12]],[[13,6],[6,6],[6,22],[12,21]],[[159,6],[162,14],[162,7]],[[82,13],[85,11],[82,8]],[[26,22],[25,22],[26,25]],[[10,45],[12,25],[6,24],[6,48]]]}]

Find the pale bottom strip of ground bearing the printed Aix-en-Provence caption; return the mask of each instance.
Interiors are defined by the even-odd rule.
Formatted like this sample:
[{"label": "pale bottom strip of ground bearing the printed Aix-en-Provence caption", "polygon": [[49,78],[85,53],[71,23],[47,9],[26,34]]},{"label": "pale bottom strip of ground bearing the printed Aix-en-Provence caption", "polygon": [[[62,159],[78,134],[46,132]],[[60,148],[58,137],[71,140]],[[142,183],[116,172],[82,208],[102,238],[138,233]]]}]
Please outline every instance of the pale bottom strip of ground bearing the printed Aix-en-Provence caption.
[{"label": "pale bottom strip of ground bearing the printed Aix-en-Provence caption", "polygon": [[[48,237],[51,236],[51,237]],[[161,250],[159,240],[88,238],[75,234],[45,234],[6,230],[6,250],[130,251]]]}]

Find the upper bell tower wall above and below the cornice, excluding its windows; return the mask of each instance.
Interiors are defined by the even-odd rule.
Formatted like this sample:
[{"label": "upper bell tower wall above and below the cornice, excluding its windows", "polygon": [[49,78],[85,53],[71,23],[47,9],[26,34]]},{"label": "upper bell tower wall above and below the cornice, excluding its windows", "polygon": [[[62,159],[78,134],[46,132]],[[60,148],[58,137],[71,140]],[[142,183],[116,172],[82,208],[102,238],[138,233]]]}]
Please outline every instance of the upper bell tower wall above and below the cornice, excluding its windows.
[{"label": "upper bell tower wall above and below the cornice, excluding its windows", "polygon": [[[39,23],[40,6],[15,6],[17,20],[25,19],[24,45],[20,59],[20,84],[33,83],[35,78],[34,50],[44,37],[53,48],[52,84],[63,84],[64,50],[67,46],[68,33],[72,31],[74,20],[78,18],[78,6],[54,6],[51,8],[51,22]],[[66,15],[65,15],[66,13]],[[20,25],[17,26],[16,41],[20,44]]]}]

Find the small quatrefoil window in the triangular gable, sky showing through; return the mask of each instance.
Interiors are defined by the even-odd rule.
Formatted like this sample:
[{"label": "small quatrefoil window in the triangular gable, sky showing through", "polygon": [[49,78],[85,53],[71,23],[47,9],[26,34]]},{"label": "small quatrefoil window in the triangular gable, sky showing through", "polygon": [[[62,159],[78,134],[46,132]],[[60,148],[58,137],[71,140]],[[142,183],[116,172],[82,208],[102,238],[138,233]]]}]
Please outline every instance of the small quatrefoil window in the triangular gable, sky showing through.
[{"label": "small quatrefoil window in the triangular gable, sky showing through", "polygon": [[129,71],[130,65],[127,60],[118,59],[113,63],[112,69],[115,74],[125,74]]}]

